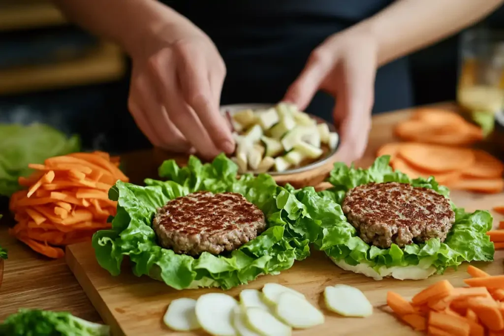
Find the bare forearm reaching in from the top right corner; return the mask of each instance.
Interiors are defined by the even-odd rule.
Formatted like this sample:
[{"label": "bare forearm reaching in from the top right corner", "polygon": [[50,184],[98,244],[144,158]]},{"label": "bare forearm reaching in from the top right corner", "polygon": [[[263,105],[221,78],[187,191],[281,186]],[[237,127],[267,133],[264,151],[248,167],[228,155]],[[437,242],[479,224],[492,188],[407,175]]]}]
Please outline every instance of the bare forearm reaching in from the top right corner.
[{"label": "bare forearm reaching in from the top right corner", "polygon": [[383,65],[446,38],[485,17],[504,0],[397,0],[351,30],[370,33]]}]

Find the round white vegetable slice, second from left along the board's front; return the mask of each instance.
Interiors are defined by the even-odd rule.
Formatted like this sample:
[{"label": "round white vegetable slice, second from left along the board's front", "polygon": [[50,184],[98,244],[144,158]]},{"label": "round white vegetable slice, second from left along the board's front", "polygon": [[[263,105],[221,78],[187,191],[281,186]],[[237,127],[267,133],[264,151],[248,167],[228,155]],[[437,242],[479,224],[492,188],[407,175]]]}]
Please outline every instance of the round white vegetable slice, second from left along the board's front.
[{"label": "round white vegetable slice, second from left along the board's front", "polygon": [[196,301],[196,317],[201,327],[214,336],[236,336],[232,324],[233,310],[238,302],[223,293],[209,293]]}]

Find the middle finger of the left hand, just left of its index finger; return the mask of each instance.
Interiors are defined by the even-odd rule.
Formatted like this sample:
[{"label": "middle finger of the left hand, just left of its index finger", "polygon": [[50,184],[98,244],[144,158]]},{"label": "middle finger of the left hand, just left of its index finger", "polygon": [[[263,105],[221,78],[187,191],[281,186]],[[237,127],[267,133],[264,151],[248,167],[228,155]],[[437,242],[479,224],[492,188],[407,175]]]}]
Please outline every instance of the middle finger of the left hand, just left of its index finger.
[{"label": "middle finger of the left hand, just left of its index finger", "polygon": [[185,102],[178,85],[175,61],[170,49],[161,50],[149,60],[149,74],[170,120],[202,156],[211,159],[220,150],[214,145],[196,113]]}]

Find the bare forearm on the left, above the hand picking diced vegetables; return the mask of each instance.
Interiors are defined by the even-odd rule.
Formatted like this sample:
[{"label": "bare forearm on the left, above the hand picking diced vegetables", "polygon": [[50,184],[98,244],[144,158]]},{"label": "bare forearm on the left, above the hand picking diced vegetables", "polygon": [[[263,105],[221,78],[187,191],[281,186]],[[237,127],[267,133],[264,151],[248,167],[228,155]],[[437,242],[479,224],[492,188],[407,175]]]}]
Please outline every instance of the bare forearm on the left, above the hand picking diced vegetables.
[{"label": "bare forearm on the left, above the hand picking diced vegetables", "polygon": [[81,27],[111,39],[130,54],[135,44],[161,26],[186,21],[156,0],[53,0]]}]

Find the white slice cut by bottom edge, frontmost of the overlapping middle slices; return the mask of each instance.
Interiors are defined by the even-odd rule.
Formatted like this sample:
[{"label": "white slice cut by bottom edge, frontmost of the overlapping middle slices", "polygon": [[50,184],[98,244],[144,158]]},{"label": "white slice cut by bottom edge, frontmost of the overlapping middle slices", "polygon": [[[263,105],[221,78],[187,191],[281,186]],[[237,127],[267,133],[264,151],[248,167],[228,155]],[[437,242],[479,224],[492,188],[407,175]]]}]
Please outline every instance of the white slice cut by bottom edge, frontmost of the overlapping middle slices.
[{"label": "white slice cut by bottom edge, frontmost of the overlapping middle slices", "polygon": [[248,324],[263,336],[290,336],[290,326],[280,322],[267,310],[251,307],[246,309]]}]

